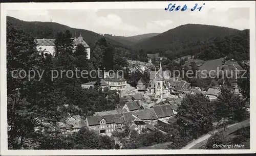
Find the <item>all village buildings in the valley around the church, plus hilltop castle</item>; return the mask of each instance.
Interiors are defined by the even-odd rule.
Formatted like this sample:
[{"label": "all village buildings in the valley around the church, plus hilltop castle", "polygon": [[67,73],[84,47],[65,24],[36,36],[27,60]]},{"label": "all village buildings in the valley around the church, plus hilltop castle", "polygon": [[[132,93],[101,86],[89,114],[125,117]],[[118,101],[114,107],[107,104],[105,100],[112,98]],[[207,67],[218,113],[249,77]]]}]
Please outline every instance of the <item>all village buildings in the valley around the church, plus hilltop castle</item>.
[{"label": "all village buildings in the valley around the church, plus hilltop castle", "polygon": [[[37,48],[45,49],[45,54],[53,53],[53,41],[37,39]],[[74,38],[74,43],[82,43],[89,51],[90,47],[83,41],[81,35]],[[75,43],[76,44],[76,43]],[[117,94],[120,99],[121,107],[115,110],[96,112],[93,116],[82,118],[79,115],[70,115],[58,123],[58,129],[62,134],[78,132],[82,128],[89,128],[100,135],[108,135],[119,143],[118,139],[125,131],[136,131],[138,134],[161,131],[162,127],[171,127],[176,122],[177,108],[182,99],[188,95],[203,94],[210,100],[215,100],[220,92],[220,87],[203,88],[193,87],[190,83],[180,77],[172,77],[169,71],[164,71],[161,61],[165,57],[158,54],[147,54],[148,63],[127,60],[131,72],[143,72],[153,69],[152,59],[157,59],[160,66],[157,71],[150,71],[150,81],[146,84],[145,80],[140,79],[136,87],[132,87],[118,73],[104,71],[101,74],[100,88],[108,94]],[[94,89],[96,82],[81,84],[83,89]],[[233,84],[232,92],[238,94],[237,82]],[[108,97],[106,97],[108,98]],[[129,135],[128,135],[129,138]]]}]

